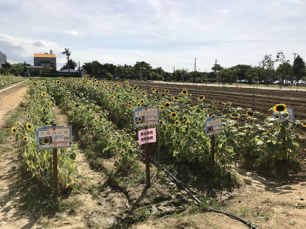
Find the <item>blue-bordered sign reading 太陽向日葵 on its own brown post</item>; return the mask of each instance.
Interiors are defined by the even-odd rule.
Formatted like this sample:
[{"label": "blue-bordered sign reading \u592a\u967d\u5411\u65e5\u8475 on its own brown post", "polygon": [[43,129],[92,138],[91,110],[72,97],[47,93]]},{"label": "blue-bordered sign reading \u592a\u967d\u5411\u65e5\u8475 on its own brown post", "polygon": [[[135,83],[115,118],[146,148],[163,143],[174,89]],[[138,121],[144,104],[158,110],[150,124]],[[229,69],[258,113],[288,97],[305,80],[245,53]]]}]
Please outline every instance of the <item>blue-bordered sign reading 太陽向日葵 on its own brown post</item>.
[{"label": "blue-bordered sign reading \u592a\u967d\u5411\u65e5\u8475 on its own brown post", "polygon": [[37,126],[36,146],[38,150],[71,148],[71,125]]}]

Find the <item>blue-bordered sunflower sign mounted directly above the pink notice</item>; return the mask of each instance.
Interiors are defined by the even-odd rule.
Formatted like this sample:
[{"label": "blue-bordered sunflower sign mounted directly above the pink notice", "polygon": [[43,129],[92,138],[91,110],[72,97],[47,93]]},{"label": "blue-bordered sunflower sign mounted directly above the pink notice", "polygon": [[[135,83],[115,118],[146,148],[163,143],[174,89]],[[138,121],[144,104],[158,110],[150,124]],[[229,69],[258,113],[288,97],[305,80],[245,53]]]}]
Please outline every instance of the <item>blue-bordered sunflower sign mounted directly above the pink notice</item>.
[{"label": "blue-bordered sunflower sign mounted directly above the pink notice", "polygon": [[159,106],[135,107],[133,116],[136,128],[159,125]]}]

